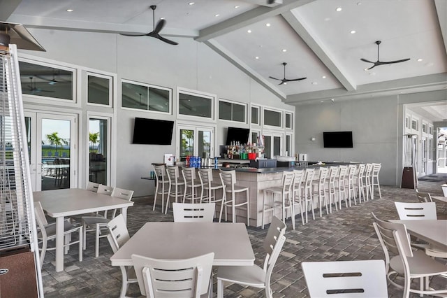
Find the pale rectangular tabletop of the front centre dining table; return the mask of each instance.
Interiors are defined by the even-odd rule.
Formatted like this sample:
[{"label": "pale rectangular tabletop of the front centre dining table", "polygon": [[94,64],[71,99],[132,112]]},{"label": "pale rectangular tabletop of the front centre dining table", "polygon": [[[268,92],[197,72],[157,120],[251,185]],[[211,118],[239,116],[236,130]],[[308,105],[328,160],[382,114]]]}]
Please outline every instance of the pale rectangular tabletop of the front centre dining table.
[{"label": "pale rectangular tabletop of the front centre dining table", "polygon": [[131,255],[186,259],[214,252],[214,266],[251,266],[254,253],[242,222],[147,222],[117,253],[112,266],[131,266]]}]

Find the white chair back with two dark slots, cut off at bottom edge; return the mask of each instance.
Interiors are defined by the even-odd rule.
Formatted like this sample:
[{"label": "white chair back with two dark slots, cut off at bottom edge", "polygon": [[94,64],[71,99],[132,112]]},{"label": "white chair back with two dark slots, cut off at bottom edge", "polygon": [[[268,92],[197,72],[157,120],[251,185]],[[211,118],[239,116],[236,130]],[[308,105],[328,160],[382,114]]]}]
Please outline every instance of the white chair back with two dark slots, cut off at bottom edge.
[{"label": "white chair back with two dark slots, cut off at bottom edge", "polygon": [[388,297],[383,260],[302,262],[301,267],[310,297]]}]

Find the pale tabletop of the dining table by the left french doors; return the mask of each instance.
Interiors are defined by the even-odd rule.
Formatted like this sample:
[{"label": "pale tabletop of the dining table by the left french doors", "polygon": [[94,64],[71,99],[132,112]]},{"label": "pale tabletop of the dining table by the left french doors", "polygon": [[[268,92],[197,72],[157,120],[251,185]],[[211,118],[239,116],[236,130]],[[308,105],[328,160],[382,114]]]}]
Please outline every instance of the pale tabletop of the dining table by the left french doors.
[{"label": "pale tabletop of the dining table by the left french doors", "polygon": [[43,190],[33,192],[33,197],[34,201],[41,202],[43,210],[52,218],[133,206],[133,201],[80,188]]}]

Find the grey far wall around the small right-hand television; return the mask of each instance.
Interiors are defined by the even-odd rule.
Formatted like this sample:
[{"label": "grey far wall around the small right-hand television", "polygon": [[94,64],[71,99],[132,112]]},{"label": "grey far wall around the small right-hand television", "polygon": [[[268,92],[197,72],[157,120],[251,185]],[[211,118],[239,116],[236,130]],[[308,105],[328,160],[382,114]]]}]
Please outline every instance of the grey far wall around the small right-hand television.
[{"label": "grey far wall around the small right-hand television", "polygon": [[[397,97],[309,104],[295,113],[297,153],[312,161],[378,162],[381,184],[397,185]],[[323,148],[323,132],[335,131],[352,131],[353,148]]]}]

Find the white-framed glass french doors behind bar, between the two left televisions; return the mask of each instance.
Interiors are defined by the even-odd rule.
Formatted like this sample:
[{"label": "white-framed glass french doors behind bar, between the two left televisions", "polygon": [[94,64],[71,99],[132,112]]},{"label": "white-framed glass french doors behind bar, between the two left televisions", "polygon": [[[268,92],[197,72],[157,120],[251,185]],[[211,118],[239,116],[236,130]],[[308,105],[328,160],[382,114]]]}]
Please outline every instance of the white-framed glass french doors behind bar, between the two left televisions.
[{"label": "white-framed glass french doors behind bar, between the two left televisions", "polygon": [[186,156],[199,156],[202,158],[214,157],[214,128],[190,127],[179,125],[177,127],[177,158],[185,160]]}]

